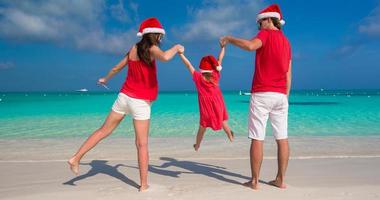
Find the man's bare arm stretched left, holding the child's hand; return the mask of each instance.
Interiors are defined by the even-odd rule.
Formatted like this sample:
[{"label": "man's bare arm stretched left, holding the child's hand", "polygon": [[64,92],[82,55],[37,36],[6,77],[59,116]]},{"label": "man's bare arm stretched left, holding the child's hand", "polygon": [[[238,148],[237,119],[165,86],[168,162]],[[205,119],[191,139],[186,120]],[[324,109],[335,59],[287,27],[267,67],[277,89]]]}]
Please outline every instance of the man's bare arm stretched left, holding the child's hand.
[{"label": "man's bare arm stretched left, holding the child's hand", "polygon": [[254,38],[252,40],[240,39],[240,38],[235,38],[232,36],[225,36],[225,37],[220,38],[221,46],[225,46],[228,43],[231,43],[247,51],[255,51],[263,45],[261,40],[257,38]]}]

